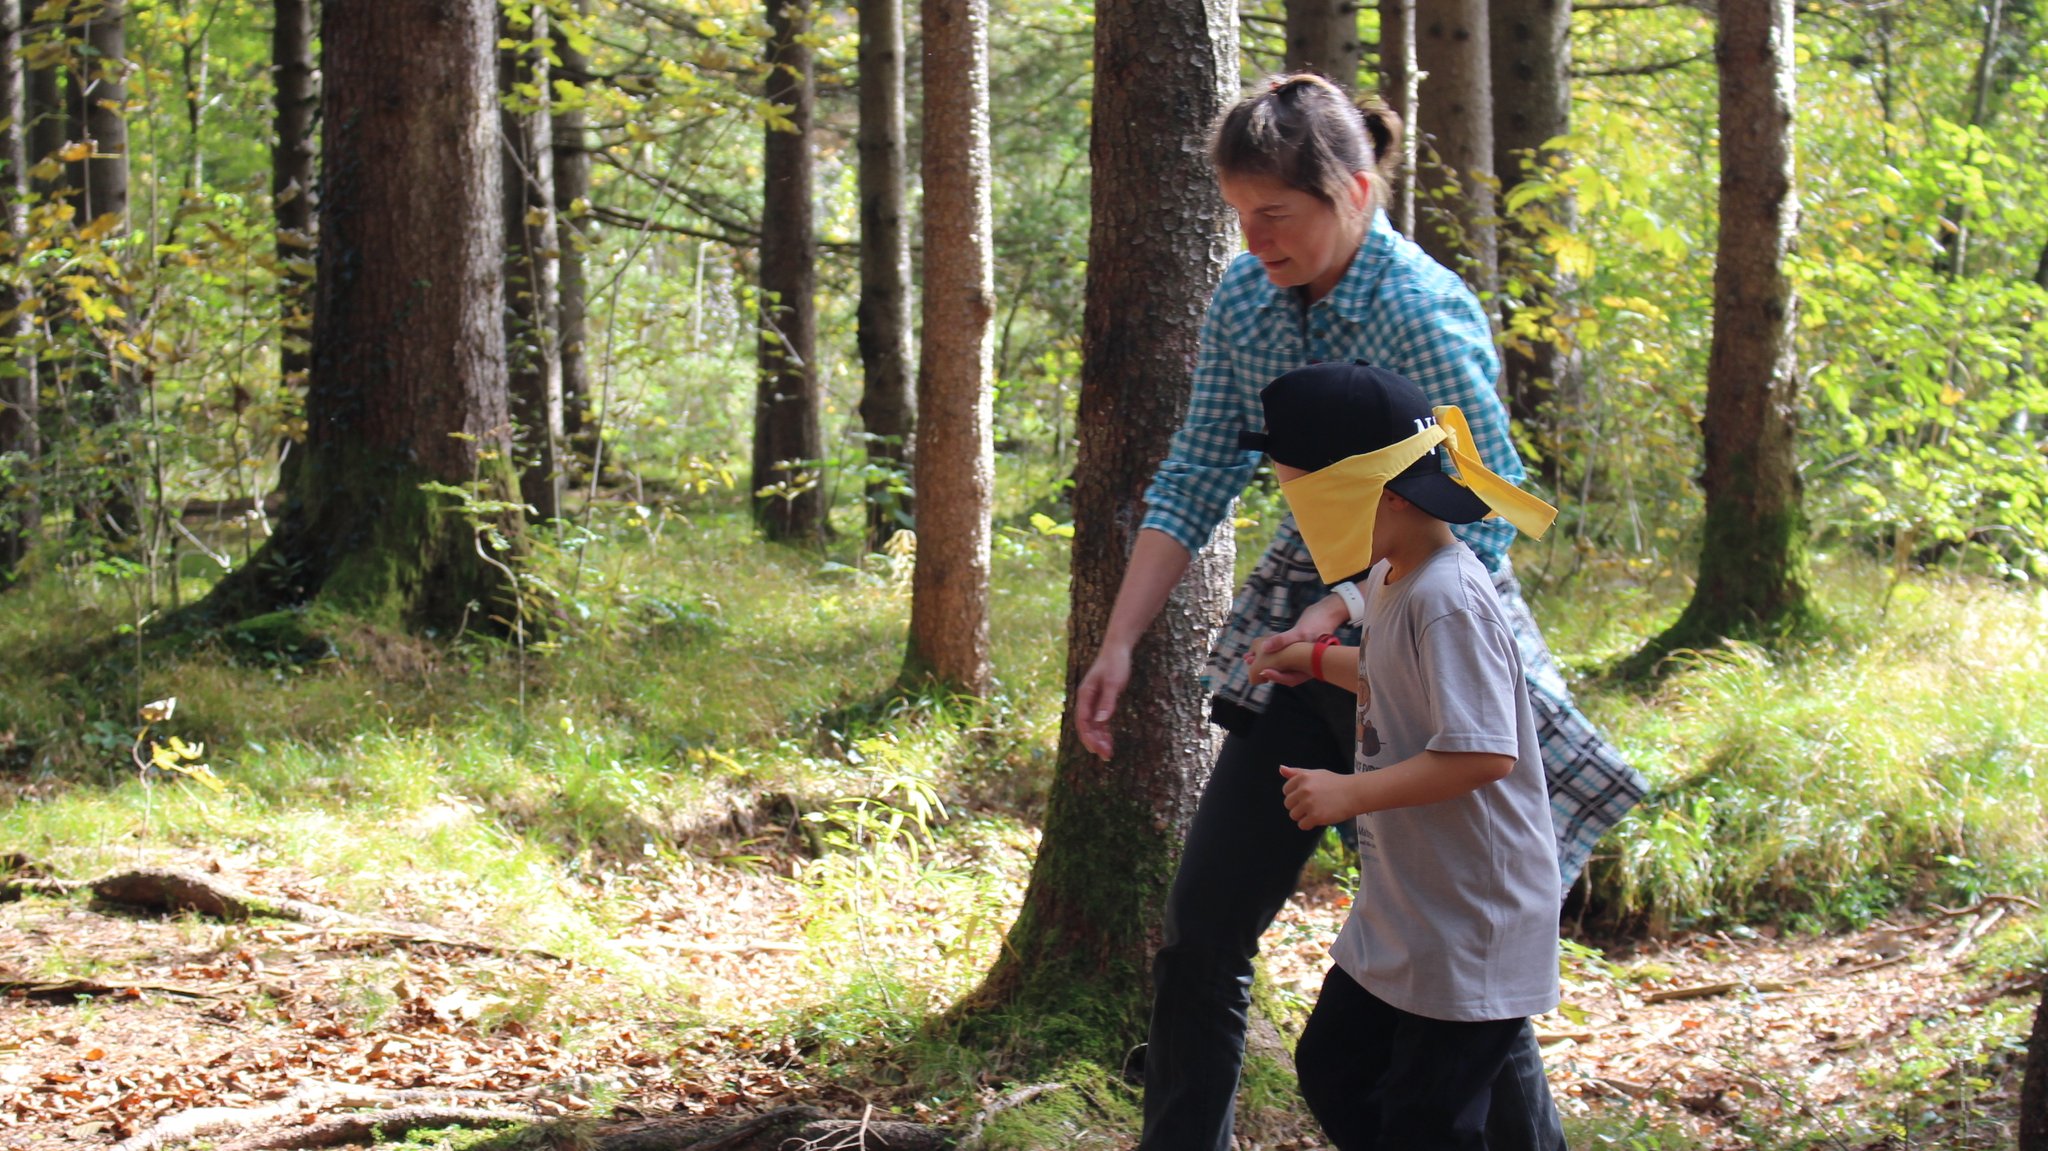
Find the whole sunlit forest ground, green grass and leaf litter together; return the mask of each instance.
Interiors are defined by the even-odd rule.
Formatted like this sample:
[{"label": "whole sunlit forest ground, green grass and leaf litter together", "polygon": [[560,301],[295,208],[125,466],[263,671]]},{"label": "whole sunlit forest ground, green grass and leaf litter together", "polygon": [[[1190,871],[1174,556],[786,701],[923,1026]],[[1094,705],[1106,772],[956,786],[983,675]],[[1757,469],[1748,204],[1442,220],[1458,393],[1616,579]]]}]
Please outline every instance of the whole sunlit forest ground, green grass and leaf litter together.
[{"label": "whole sunlit forest ground, green grass and leaf litter together", "polygon": [[[1028,879],[1065,668],[1059,524],[997,530],[989,700],[897,688],[907,549],[768,549],[715,496],[539,541],[551,606],[524,649],[348,619],[170,645],[92,571],[0,596],[0,852],[20,877],[184,864],[446,934],[8,887],[0,1145],[113,1143],[309,1079],[932,1122],[1059,1081],[997,1108],[985,1145],[1128,1145],[1114,1069],[1008,1065],[934,1024]],[[1688,655],[1638,694],[1597,672],[1679,584],[1559,549],[1520,557],[1538,616],[1655,786],[1567,913],[1567,1006],[1542,1030],[1573,1145],[1999,1145],[2048,954],[2048,596],[1825,555],[1825,637]],[[1268,936],[1282,1030],[1348,870],[1321,854]],[[147,1053],[172,1032],[221,1059],[211,1079],[188,1059],[193,1081],[164,1079]],[[1315,1145],[1284,1071],[1255,1063],[1245,1092],[1249,1145]]]}]

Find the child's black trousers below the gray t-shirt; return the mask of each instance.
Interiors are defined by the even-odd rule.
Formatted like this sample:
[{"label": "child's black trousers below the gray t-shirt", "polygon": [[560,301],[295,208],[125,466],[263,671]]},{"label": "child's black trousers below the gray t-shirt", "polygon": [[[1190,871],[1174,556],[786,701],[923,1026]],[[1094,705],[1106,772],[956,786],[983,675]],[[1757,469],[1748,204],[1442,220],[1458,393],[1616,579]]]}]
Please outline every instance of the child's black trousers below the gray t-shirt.
[{"label": "child's black trousers below the gray t-shirt", "polygon": [[1337,1151],[1487,1151],[1493,1081],[1528,1020],[1432,1020],[1331,967],[1294,1069]]}]

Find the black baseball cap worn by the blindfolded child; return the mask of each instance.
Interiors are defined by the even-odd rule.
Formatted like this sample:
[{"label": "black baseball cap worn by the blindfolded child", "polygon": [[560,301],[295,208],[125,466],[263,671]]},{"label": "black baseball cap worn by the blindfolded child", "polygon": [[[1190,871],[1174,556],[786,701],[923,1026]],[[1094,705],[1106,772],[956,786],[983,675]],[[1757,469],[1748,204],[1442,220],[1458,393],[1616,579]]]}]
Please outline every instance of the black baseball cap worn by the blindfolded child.
[{"label": "black baseball cap worn by the blindfolded child", "polygon": [[[1274,463],[1321,471],[1366,455],[1436,424],[1430,397],[1409,377],[1364,360],[1294,369],[1260,391],[1266,432],[1245,432],[1237,446],[1264,451]],[[1423,512],[1470,524],[1491,508],[1470,487],[1444,471],[1442,446],[1417,459],[1386,487]]]}]

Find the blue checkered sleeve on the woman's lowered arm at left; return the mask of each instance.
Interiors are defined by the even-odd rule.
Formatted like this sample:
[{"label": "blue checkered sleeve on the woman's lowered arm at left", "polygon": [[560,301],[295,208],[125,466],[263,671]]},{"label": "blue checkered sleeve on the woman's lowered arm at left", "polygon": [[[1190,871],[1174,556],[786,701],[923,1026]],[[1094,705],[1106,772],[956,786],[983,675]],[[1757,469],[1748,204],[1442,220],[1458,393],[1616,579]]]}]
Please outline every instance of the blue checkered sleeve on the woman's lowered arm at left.
[{"label": "blue checkered sleeve on the woman's lowered arm at left", "polygon": [[1233,330],[1257,307],[1255,295],[1245,291],[1245,285],[1243,274],[1229,272],[1217,285],[1217,295],[1202,315],[1188,418],[1174,432],[1159,471],[1145,487],[1145,520],[1139,526],[1165,532],[1190,555],[1208,543],[1208,535],[1217,530],[1231,510],[1231,500],[1245,489],[1260,463],[1260,453],[1237,446],[1239,432],[1264,426],[1247,403],[1257,406],[1266,381],[1247,387],[1239,379],[1243,369],[1235,354]]}]

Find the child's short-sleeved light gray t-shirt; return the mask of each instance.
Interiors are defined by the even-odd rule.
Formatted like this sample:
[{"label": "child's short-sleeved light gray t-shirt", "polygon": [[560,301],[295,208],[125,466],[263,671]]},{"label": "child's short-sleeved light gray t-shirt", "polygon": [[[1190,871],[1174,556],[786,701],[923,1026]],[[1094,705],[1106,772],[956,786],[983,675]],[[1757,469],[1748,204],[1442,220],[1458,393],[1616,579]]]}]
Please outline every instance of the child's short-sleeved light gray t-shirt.
[{"label": "child's short-sleeved light gray t-shirt", "polygon": [[1434,1020],[1556,1006],[1556,842],[1513,633],[1493,580],[1454,543],[1399,584],[1362,582],[1358,770],[1423,750],[1513,756],[1479,791],[1358,817],[1358,901],[1331,958],[1360,987]]}]

